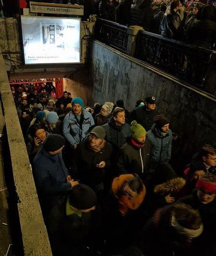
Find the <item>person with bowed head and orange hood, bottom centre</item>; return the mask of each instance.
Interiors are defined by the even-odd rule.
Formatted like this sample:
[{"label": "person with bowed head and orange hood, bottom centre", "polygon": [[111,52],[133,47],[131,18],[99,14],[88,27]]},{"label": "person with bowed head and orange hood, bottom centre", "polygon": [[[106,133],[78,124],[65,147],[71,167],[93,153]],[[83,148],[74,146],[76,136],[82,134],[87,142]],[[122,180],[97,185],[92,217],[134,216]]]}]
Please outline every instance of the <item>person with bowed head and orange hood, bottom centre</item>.
[{"label": "person with bowed head and orange hood, bottom centre", "polygon": [[105,239],[110,255],[119,255],[137,242],[146,221],[145,194],[144,183],[136,174],[122,174],[113,179],[104,210]]}]

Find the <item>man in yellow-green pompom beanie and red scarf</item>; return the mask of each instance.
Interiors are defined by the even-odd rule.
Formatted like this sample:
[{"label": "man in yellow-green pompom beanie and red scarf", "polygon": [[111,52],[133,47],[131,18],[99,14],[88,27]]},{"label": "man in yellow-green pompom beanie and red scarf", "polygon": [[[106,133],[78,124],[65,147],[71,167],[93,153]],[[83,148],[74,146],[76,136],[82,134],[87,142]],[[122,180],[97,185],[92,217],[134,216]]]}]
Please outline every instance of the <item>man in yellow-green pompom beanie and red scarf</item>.
[{"label": "man in yellow-green pompom beanie and red scarf", "polygon": [[120,148],[117,170],[126,173],[144,175],[149,169],[150,142],[145,138],[144,127],[136,121],[131,122],[131,134],[127,142]]}]

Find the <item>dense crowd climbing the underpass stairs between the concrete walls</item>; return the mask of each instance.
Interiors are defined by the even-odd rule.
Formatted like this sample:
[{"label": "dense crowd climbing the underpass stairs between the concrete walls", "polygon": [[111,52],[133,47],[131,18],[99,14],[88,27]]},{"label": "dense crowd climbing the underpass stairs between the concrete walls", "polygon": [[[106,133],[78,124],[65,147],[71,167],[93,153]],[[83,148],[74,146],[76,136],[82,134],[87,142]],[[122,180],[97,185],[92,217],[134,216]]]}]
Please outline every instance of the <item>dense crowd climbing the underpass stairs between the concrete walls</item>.
[{"label": "dense crowd climbing the underpass stairs between the concrete walls", "polygon": [[54,256],[216,255],[216,146],[177,174],[156,97],[128,111],[44,82],[11,90]]}]

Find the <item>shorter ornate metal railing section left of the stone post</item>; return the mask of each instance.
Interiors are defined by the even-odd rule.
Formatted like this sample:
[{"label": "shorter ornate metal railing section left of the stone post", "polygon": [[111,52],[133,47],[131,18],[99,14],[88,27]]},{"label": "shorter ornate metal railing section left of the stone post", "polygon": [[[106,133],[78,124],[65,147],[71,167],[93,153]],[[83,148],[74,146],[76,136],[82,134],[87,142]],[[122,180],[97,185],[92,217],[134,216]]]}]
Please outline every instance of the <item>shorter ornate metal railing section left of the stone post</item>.
[{"label": "shorter ornate metal railing section left of the stone post", "polygon": [[97,18],[95,39],[121,52],[127,52],[127,26]]}]

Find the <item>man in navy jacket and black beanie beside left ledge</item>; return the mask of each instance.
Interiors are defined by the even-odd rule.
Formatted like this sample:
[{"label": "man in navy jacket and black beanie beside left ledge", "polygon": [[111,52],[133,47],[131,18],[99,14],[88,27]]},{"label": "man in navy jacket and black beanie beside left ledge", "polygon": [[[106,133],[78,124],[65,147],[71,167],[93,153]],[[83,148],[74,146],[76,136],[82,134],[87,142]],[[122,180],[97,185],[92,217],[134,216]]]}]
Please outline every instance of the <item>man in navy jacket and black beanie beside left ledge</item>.
[{"label": "man in navy jacket and black beanie beside left ledge", "polygon": [[36,188],[44,212],[55,205],[60,195],[78,184],[72,180],[62,159],[64,144],[63,136],[50,134],[33,161]]}]

